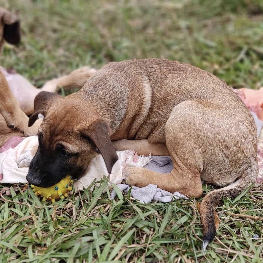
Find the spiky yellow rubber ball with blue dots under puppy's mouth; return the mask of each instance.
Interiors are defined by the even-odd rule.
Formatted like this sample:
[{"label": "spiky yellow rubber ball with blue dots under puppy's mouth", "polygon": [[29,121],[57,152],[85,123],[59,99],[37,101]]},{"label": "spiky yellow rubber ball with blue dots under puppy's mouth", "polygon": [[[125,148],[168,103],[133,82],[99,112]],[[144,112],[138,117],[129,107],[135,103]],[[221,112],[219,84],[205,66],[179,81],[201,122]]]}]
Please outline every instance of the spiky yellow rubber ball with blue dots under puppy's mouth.
[{"label": "spiky yellow rubber ball with blue dots under puppy's mouth", "polygon": [[73,180],[70,175],[67,175],[57,184],[43,188],[34,186],[31,184],[31,188],[33,189],[36,196],[40,195],[43,197],[43,201],[51,200],[52,203],[56,201],[56,199],[64,199],[68,197],[67,191],[72,190]]}]

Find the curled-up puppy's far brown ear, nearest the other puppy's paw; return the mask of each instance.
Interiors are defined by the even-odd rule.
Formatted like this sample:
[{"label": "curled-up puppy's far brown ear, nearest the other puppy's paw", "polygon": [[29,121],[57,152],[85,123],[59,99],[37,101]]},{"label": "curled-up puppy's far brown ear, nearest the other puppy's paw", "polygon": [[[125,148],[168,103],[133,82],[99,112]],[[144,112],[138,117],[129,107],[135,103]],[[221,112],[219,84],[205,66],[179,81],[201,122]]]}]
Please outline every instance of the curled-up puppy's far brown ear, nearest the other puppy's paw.
[{"label": "curled-up puppy's far brown ear, nearest the other puppy's paw", "polygon": [[[42,114],[44,117],[50,105],[56,98],[61,96],[47,91],[41,91],[34,99],[34,113],[30,116],[28,121],[28,127],[31,127],[34,122],[38,119],[38,115]],[[61,97],[62,98],[62,97]]]}]

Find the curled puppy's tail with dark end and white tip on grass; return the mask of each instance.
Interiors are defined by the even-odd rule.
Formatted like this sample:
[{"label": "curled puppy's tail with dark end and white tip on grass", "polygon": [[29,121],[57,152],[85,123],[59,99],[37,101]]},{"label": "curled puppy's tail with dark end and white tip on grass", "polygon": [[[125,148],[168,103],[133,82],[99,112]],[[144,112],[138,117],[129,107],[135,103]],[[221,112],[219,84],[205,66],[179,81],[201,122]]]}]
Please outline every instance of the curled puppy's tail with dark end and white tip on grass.
[{"label": "curled puppy's tail with dark end and white tip on grass", "polygon": [[200,216],[204,232],[204,238],[202,242],[203,251],[205,251],[207,245],[214,239],[216,235],[214,217],[215,207],[223,202],[224,197],[237,197],[245,189],[256,182],[257,175],[258,165],[256,163],[246,169],[243,175],[231,185],[211,191],[203,198],[200,205]]}]

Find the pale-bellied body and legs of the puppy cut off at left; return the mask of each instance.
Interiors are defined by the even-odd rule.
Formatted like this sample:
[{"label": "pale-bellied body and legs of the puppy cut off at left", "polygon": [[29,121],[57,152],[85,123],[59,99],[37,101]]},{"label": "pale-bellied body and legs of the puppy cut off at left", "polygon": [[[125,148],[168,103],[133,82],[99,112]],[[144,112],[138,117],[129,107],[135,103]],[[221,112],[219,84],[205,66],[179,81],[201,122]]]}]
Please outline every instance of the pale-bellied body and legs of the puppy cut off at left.
[{"label": "pale-bellied body and legs of the puppy cut off at left", "polygon": [[37,135],[42,119],[28,127],[27,115],[34,112],[34,98],[39,92],[56,92],[59,87],[81,88],[95,72],[94,69],[83,67],[69,75],[50,80],[37,89],[21,75],[8,74],[0,67],[0,147],[14,136]]}]

